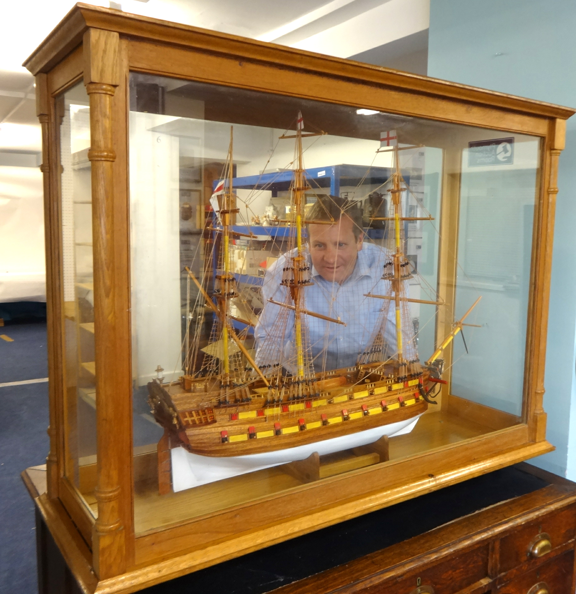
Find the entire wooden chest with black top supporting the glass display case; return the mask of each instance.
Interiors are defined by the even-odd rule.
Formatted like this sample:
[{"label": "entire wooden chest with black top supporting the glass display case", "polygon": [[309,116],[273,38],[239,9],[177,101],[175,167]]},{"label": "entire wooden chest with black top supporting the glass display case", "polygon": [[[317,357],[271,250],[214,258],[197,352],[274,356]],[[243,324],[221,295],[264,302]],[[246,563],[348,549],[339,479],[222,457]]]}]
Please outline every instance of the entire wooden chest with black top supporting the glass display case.
[{"label": "entire wooden chest with black top supporting the glass display case", "polygon": [[[40,592],[79,593],[37,533]],[[575,537],[576,484],[521,464],[142,592],[574,594]]]}]

